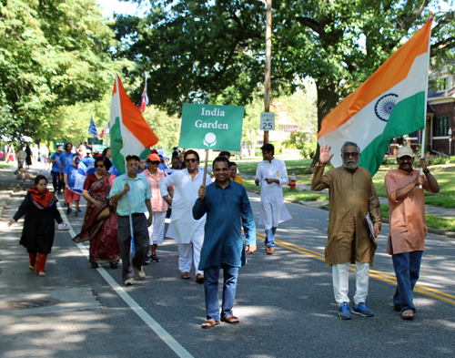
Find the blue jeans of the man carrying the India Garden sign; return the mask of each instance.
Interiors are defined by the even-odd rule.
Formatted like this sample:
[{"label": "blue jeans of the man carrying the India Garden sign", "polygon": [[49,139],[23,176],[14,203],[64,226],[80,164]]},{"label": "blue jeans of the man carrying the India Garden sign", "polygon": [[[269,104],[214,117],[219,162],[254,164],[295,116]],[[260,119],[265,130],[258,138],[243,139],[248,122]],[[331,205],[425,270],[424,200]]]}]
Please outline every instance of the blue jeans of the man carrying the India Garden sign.
[{"label": "blue jeans of the man carrying the India Garden sign", "polygon": [[204,292],[206,293],[207,320],[219,321],[218,278],[219,270],[223,269],[223,304],[221,317],[232,315],[232,307],[236,298],[238,267],[226,263],[204,269]]}]

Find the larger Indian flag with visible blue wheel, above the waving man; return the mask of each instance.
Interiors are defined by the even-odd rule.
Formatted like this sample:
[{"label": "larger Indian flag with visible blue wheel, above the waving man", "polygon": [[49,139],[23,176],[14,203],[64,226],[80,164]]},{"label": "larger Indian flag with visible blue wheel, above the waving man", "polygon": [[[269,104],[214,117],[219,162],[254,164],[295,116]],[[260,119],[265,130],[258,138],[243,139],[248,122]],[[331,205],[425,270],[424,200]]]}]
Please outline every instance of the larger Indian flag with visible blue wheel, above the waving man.
[{"label": "larger Indian flag with visible blue wheel, above the waving man", "polygon": [[331,146],[334,167],[342,165],[344,142],[361,150],[359,166],[373,176],[392,138],[425,128],[430,20],[324,119],[319,145]]}]

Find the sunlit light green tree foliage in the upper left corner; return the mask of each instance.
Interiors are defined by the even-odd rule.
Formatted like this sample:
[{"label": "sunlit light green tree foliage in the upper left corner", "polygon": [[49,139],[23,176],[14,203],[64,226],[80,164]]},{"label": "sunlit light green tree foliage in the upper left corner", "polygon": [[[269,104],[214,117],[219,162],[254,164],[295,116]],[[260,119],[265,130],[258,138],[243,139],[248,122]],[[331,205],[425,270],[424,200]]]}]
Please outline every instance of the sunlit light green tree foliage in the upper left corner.
[{"label": "sunlit light green tree foliage in the upper left corner", "polygon": [[94,0],[0,1],[0,132],[35,135],[58,107],[101,98],[114,44]]}]

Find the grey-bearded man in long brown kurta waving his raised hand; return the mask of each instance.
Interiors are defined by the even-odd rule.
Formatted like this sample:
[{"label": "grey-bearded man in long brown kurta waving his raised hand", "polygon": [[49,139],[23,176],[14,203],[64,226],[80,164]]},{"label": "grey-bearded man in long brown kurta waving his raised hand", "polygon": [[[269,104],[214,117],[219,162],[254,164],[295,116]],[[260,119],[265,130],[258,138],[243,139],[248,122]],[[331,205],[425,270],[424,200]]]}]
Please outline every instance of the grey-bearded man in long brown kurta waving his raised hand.
[{"label": "grey-bearded man in long brown kurta waving his raised hand", "polygon": [[379,235],[381,214],[379,199],[369,171],[359,167],[360,149],[356,143],[346,142],[341,148],[343,165],[324,168],[333,154],[330,147],[320,148],[312,190],[329,188],[329,240],[326,245],[326,265],[332,266],[333,292],[339,304],[339,318],[350,320],[349,265],[356,264],[356,293],[352,312],[370,317],[373,312],[365,305],[369,289],[369,266],[373,264],[377,242],[370,237],[365,217],[369,213],[374,237]]}]

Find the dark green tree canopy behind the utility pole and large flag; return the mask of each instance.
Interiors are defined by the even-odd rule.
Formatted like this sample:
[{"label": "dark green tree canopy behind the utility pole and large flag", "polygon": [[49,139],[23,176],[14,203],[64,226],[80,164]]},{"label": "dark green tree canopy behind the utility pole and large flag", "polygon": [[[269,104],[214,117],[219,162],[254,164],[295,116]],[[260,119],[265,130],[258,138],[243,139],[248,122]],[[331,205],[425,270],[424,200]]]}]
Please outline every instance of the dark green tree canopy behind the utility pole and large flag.
[{"label": "dark green tree canopy behind the utility pole and large flag", "polygon": [[[320,123],[430,15],[438,0],[274,0],[272,92],[314,78]],[[434,17],[431,56],[454,58],[454,12]],[[149,73],[151,101],[170,113],[183,102],[245,104],[264,79],[265,11],[258,0],[156,0],[143,18],[118,16],[116,56]],[[140,96],[139,90],[136,97]],[[316,156],[318,159],[318,155]]]}]

